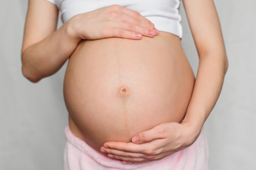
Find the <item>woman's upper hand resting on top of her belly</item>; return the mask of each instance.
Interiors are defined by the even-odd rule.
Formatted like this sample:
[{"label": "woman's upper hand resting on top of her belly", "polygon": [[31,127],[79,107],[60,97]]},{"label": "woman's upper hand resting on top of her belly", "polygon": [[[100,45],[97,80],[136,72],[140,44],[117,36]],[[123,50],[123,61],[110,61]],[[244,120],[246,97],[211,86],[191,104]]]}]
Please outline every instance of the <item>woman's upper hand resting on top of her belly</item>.
[{"label": "woman's upper hand resting on top of her belly", "polygon": [[141,39],[158,34],[154,24],[137,11],[112,5],[72,17],[66,22],[77,39],[120,37]]}]

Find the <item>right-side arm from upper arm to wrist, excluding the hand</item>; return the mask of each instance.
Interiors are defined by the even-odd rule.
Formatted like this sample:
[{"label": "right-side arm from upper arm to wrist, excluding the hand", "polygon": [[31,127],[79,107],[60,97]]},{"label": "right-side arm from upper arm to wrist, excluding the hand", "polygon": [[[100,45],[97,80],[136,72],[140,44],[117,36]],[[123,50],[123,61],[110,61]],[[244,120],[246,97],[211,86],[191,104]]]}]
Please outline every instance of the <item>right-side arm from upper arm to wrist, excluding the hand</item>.
[{"label": "right-side arm from upper arm to wrist, excluding the hand", "polygon": [[183,0],[183,3],[198,50],[199,67],[182,123],[193,125],[199,134],[218,100],[228,62],[213,0]]}]

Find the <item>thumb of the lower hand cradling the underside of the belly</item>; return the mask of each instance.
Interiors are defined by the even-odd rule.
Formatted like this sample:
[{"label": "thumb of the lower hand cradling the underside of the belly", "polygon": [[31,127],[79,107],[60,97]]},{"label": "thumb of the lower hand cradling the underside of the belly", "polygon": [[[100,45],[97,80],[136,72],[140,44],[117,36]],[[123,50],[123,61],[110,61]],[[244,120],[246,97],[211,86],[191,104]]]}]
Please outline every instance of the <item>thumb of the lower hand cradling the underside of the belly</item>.
[{"label": "thumb of the lower hand cradling the underside of the belly", "polygon": [[144,144],[159,138],[159,133],[157,133],[157,128],[155,127],[148,131],[137,133],[134,135],[134,137],[132,137],[132,142],[135,144]]}]

